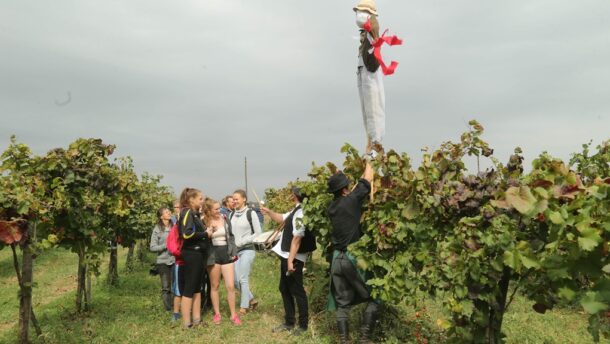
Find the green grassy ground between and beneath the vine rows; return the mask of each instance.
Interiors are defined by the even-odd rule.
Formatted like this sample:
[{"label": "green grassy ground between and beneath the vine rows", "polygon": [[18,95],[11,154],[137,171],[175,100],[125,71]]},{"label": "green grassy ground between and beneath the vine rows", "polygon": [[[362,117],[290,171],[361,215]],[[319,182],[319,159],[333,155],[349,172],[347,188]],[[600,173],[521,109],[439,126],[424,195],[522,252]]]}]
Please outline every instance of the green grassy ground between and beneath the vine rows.
[{"label": "green grassy ground between and beneath the vine rows", "polygon": [[[277,292],[278,262],[265,254],[257,255],[251,275],[252,289],[260,302],[259,308],[242,318],[241,327],[235,327],[228,321],[226,298],[221,294],[222,324],[211,324],[211,313],[206,313],[204,321],[208,325],[186,331],[172,324],[170,314],[162,309],[158,277],[148,275],[147,265],[140,266],[130,274],[125,272],[125,253],[119,252],[120,285],[107,286],[103,275],[94,280],[93,310],[81,315],[74,313],[76,255],[56,249],[36,259],[34,309],[46,343],[191,343],[194,340],[220,340],[225,343],[334,342],[333,314],[323,310],[326,290],[321,282],[325,277],[318,277],[317,280],[313,275],[308,277],[311,321],[310,331],[305,336],[294,338],[270,331],[282,321],[283,307]],[[323,266],[310,269],[315,270],[318,276],[323,275]],[[0,290],[0,343],[12,343],[17,338],[18,300],[10,249],[0,251]],[[417,310],[421,312],[424,305],[426,312],[420,317],[415,317],[416,309],[413,307],[398,307],[400,320],[387,316],[384,320],[385,331],[378,335],[388,343],[415,343],[410,335],[419,326],[422,332],[428,331],[434,338],[440,338],[435,328],[436,319],[441,316],[439,305],[433,300],[425,300]],[[356,307],[352,312],[354,328],[360,310],[361,307]],[[526,300],[517,298],[505,319],[508,343],[592,342],[586,331],[586,316],[578,312],[554,310],[541,315],[532,312]]]}]

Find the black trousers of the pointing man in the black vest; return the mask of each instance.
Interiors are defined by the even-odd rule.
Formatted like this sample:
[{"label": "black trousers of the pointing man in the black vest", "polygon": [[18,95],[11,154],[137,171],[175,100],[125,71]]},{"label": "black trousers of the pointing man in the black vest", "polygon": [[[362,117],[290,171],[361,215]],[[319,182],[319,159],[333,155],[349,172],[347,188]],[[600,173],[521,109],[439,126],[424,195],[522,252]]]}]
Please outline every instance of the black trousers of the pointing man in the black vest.
[{"label": "black trousers of the pointing man in the black vest", "polygon": [[307,294],[303,287],[303,266],[305,263],[295,259],[293,261],[294,271],[289,276],[286,276],[288,271],[288,260],[281,258],[280,263],[280,293],[282,301],[284,301],[284,319],[287,325],[295,325],[295,308],[296,300],[299,307],[299,327],[307,329],[309,322],[309,309],[307,305]]}]

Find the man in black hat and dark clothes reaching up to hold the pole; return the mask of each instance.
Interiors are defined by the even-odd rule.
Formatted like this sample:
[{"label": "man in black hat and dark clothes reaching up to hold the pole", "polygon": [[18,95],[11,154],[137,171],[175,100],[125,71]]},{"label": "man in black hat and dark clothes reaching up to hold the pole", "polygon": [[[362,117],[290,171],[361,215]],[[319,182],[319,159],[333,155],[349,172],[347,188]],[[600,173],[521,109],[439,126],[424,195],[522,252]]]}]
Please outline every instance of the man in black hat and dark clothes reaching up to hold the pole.
[{"label": "man in black hat and dark clothes reaching up to hold the pole", "polygon": [[331,297],[328,309],[337,310],[337,327],[341,343],[349,341],[349,309],[351,306],[369,302],[363,314],[360,343],[371,343],[380,305],[371,299],[364,272],[356,267],[356,259],[348,246],[360,239],[360,217],[362,203],[371,191],[373,168],[366,159],[366,167],[356,187],[349,191],[349,179],[342,172],[328,180],[328,191],[335,198],[328,206],[327,214],[332,225],[331,241],[333,260],[331,264]]}]

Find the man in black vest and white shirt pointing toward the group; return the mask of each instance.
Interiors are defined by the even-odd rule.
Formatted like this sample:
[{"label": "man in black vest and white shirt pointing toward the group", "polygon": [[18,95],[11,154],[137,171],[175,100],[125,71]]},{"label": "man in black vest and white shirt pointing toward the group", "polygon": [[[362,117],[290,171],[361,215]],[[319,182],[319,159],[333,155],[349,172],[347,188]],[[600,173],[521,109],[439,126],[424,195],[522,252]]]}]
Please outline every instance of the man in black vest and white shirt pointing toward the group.
[{"label": "man in black vest and white shirt pointing toward the group", "polygon": [[[303,210],[301,209],[303,195],[296,187],[292,188],[292,200],[295,206],[285,214],[276,213],[266,207],[261,207],[261,211],[269,215],[273,221],[284,223],[280,239],[272,250],[281,261],[279,290],[282,294],[285,314],[284,323],[275,327],[273,332],[292,330],[293,335],[299,335],[307,331],[309,323],[307,294],[303,287],[303,267],[307,261],[307,254],[316,249],[316,242],[312,233],[303,226]],[[297,328],[295,328],[295,300],[299,307],[299,326]]]}]

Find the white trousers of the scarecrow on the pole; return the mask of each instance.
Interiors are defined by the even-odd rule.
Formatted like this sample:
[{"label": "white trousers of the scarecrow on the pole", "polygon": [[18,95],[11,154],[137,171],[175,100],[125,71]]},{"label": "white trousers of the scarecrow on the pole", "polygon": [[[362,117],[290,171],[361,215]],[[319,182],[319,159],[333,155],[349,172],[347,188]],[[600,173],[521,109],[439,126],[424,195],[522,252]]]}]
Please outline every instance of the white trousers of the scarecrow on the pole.
[{"label": "white trousers of the scarecrow on the pole", "polygon": [[381,68],[375,73],[358,68],[358,93],[366,134],[373,143],[382,143],[385,136],[385,91]]}]

